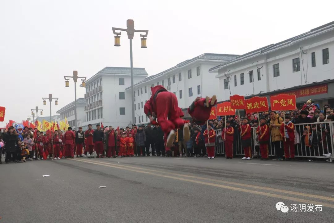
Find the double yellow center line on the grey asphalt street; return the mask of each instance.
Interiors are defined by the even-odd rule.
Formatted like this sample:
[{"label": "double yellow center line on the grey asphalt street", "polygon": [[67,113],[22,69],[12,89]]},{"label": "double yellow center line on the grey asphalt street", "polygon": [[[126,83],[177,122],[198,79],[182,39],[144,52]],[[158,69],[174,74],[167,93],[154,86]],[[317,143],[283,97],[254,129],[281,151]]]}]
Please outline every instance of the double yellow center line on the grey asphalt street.
[{"label": "double yellow center line on the grey asphalt street", "polygon": [[[329,207],[329,208],[334,209],[334,204],[323,203],[321,201],[306,200],[302,198],[290,197],[290,196],[285,196],[285,195],[280,195],[280,194],[272,194],[272,193],[267,193],[267,192],[249,190],[249,189],[240,188],[240,187],[253,188],[253,189],[258,189],[258,190],[266,190],[266,191],[278,192],[278,193],[295,195],[295,196],[298,195],[302,197],[309,197],[309,198],[334,202],[334,198],[331,198],[331,197],[325,197],[325,196],[313,195],[313,194],[305,194],[305,193],[300,193],[300,192],[287,191],[287,190],[281,190],[281,189],[275,189],[275,188],[269,188],[269,187],[261,187],[261,186],[256,186],[256,185],[241,184],[241,183],[222,181],[222,180],[216,180],[216,179],[210,179],[210,178],[196,177],[196,176],[190,176],[190,175],[184,175],[184,174],[176,174],[176,173],[171,173],[171,172],[145,169],[145,168],[140,168],[136,166],[121,165],[121,164],[115,164],[115,163],[110,163],[110,162],[101,162],[101,161],[83,160],[83,159],[70,159],[70,160],[86,162],[86,163],[91,163],[95,165],[102,165],[102,166],[107,166],[107,167],[121,169],[121,170],[127,170],[131,172],[136,172],[136,173],[149,174],[149,175],[153,175],[157,177],[169,178],[169,179],[190,182],[190,183],[195,183],[195,184],[202,184],[202,185],[224,188],[224,189],[240,191],[240,192],[245,192],[245,193],[264,195],[268,197],[296,201],[296,202],[300,202],[303,204],[314,204],[314,205],[320,204],[320,205],[323,205],[324,207]],[[211,183],[211,182],[215,182],[215,183]],[[233,187],[227,186],[226,184],[233,185]],[[235,187],[235,186],[239,186],[239,187]]]}]

